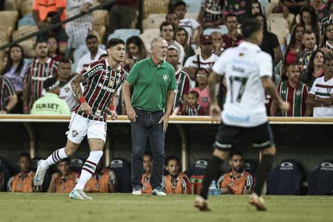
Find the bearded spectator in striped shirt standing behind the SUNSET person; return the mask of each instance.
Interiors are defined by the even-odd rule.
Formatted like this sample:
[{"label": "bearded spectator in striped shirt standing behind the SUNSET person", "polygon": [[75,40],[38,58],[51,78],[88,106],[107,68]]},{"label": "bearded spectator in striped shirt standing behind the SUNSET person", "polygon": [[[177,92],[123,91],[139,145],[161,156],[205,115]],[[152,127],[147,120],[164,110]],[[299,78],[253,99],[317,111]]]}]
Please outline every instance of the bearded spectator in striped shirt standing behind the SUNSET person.
[{"label": "bearded spectator in striped shirt standing behind the SUNSET person", "polygon": [[47,56],[47,44],[39,40],[35,45],[37,59],[26,69],[23,86],[23,111],[28,114],[33,103],[42,97],[43,83],[46,78],[58,76],[58,62]]}]

